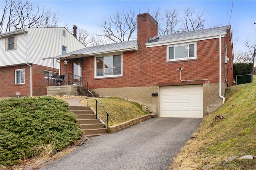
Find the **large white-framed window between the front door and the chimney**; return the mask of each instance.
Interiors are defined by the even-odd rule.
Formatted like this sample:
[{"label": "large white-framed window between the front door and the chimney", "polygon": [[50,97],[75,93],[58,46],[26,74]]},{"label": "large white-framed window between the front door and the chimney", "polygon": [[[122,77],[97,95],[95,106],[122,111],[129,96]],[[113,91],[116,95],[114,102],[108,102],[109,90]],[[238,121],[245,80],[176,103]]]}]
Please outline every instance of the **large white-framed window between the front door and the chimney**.
[{"label": "large white-framed window between the front door and the chimney", "polygon": [[96,77],[122,75],[122,55],[96,57]]}]

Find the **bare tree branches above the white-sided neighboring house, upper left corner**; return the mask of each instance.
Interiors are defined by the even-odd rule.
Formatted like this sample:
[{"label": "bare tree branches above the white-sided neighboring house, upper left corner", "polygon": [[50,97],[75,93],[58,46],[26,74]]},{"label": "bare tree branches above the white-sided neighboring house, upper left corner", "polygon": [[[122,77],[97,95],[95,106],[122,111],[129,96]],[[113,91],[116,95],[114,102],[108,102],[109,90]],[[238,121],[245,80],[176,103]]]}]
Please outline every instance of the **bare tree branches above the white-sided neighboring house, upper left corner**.
[{"label": "bare tree branches above the white-sided neighboring house, upper left corner", "polygon": [[58,14],[28,0],[5,0],[0,5],[0,33],[30,27],[57,27]]}]

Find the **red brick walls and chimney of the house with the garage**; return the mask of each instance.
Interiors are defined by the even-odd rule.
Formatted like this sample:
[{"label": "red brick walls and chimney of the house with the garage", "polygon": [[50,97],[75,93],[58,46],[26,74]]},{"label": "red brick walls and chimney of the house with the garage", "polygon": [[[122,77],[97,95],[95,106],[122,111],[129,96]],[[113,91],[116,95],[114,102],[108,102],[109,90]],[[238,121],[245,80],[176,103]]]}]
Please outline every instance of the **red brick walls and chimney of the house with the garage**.
[{"label": "red brick walls and chimney of the house with the garage", "polygon": [[[138,51],[123,53],[123,74],[112,78],[94,78],[94,57],[83,60],[83,78],[88,81],[90,89],[122,88],[138,86],[172,86],[185,84],[203,84],[202,81],[182,80],[208,79],[210,83],[219,82],[219,38],[196,42],[197,58],[183,61],[166,61],[166,45],[146,48],[148,38],[157,35],[157,22],[149,14],[138,15]],[[228,45],[228,55],[232,55],[231,42],[228,36],[222,37],[222,82],[225,82],[225,39]],[[63,61],[60,62],[61,74],[66,71]],[[231,67],[228,66],[228,86],[231,86]],[[68,63],[68,74],[72,74],[72,59]]]}]

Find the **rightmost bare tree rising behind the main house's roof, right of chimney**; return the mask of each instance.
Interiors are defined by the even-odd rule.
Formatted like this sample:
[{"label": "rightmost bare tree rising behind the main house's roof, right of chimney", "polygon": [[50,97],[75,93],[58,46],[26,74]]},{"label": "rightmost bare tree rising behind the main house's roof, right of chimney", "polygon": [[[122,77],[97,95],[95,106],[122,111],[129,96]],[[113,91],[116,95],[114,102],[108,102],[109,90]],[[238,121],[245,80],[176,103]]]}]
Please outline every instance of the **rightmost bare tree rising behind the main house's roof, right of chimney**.
[{"label": "rightmost bare tree rising behind the main house's roof, right of chimney", "polygon": [[184,10],[184,21],[183,27],[184,31],[195,31],[204,29],[204,24],[206,22],[206,18],[204,18],[204,10],[202,12],[195,12],[194,8],[186,8]]}]

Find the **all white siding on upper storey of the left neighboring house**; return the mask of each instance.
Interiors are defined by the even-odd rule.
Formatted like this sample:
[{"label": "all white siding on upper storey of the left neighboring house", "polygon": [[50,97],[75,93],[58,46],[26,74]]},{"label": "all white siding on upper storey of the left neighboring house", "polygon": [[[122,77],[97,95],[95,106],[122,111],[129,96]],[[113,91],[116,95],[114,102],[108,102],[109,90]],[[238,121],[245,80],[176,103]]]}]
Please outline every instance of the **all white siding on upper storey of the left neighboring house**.
[{"label": "all white siding on upper storey of the left neighboring house", "polygon": [[[26,28],[25,30],[28,31],[27,47],[24,33],[18,35],[18,49],[14,51],[5,51],[5,38],[1,38],[1,66],[26,63],[26,48],[27,63],[48,67],[53,67],[53,59],[42,60],[42,58],[62,55],[62,45],[67,47],[67,53],[85,48],[65,28]],[[63,36],[63,30],[66,31],[66,36]],[[60,64],[56,61],[54,68],[60,68]]]}]

